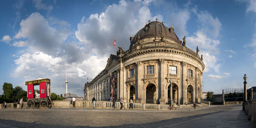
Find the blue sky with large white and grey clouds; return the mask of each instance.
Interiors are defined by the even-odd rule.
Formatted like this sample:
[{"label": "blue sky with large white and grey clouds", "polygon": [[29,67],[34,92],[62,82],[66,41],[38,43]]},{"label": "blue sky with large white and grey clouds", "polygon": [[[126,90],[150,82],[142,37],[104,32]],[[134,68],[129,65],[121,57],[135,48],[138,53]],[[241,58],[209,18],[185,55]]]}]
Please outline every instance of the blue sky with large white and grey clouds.
[{"label": "blue sky with large white and grey clouds", "polygon": [[[51,79],[51,91],[83,96],[84,83],[117,46],[128,50],[148,20],[174,26],[203,55],[203,91],[256,86],[256,1],[0,1],[0,85]],[[0,90],[3,94],[3,90]]]}]

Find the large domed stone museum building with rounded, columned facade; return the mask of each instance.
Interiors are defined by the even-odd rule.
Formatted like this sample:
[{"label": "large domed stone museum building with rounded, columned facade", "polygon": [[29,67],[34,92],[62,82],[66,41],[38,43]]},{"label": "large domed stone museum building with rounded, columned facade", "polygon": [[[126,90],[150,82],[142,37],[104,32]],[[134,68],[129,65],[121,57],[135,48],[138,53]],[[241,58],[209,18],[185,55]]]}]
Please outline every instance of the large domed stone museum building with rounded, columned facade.
[{"label": "large domed stone museum building with rounded, columned facade", "polygon": [[[134,37],[130,49],[118,47],[105,69],[84,85],[84,99],[110,101],[130,98],[137,103],[161,103],[170,99],[184,104],[202,100],[203,56],[186,47],[164,23],[148,21]],[[172,78],[172,86],[170,86]]]}]

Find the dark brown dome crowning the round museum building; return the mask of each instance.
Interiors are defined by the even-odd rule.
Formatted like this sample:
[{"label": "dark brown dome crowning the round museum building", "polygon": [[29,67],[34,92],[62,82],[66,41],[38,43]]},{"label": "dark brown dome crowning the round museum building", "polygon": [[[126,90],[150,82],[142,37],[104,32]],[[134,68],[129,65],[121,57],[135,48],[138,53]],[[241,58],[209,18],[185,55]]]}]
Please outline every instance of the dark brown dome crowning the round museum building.
[{"label": "dark brown dome crowning the round museum building", "polygon": [[[149,21],[150,22],[150,21]],[[150,22],[149,24],[145,25],[142,29],[140,29],[134,37],[131,37],[131,45],[130,48],[132,48],[133,45],[136,44],[137,40],[141,40],[144,38],[155,38],[161,36],[164,39],[172,40],[174,42],[177,42],[177,44],[181,45],[181,42],[179,41],[179,37],[175,34],[174,28],[168,28],[164,26],[164,23],[160,23],[158,21]]]}]

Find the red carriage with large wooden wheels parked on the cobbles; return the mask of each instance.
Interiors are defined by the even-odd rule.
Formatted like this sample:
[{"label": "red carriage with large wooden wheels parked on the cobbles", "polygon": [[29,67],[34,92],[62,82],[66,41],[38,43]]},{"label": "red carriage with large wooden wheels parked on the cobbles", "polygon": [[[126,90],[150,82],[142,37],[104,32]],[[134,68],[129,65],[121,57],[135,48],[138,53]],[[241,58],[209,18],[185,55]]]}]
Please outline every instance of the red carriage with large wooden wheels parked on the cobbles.
[{"label": "red carriage with large wooden wheels parked on the cobbles", "polygon": [[[50,108],[52,106],[51,100],[51,80],[48,78],[45,79],[36,79],[32,81],[25,82],[28,92],[28,101],[27,106],[30,109],[33,108]],[[38,94],[34,91],[34,86],[39,85]]]}]

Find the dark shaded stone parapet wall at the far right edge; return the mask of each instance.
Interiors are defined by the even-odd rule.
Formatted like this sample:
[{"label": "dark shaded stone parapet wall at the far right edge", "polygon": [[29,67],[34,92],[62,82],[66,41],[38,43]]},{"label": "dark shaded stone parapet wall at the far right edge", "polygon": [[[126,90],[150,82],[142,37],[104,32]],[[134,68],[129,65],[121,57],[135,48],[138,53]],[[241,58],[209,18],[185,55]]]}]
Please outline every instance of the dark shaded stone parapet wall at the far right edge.
[{"label": "dark shaded stone parapet wall at the far right edge", "polygon": [[256,99],[248,100],[245,103],[245,113],[248,115],[248,120],[256,122]]}]

